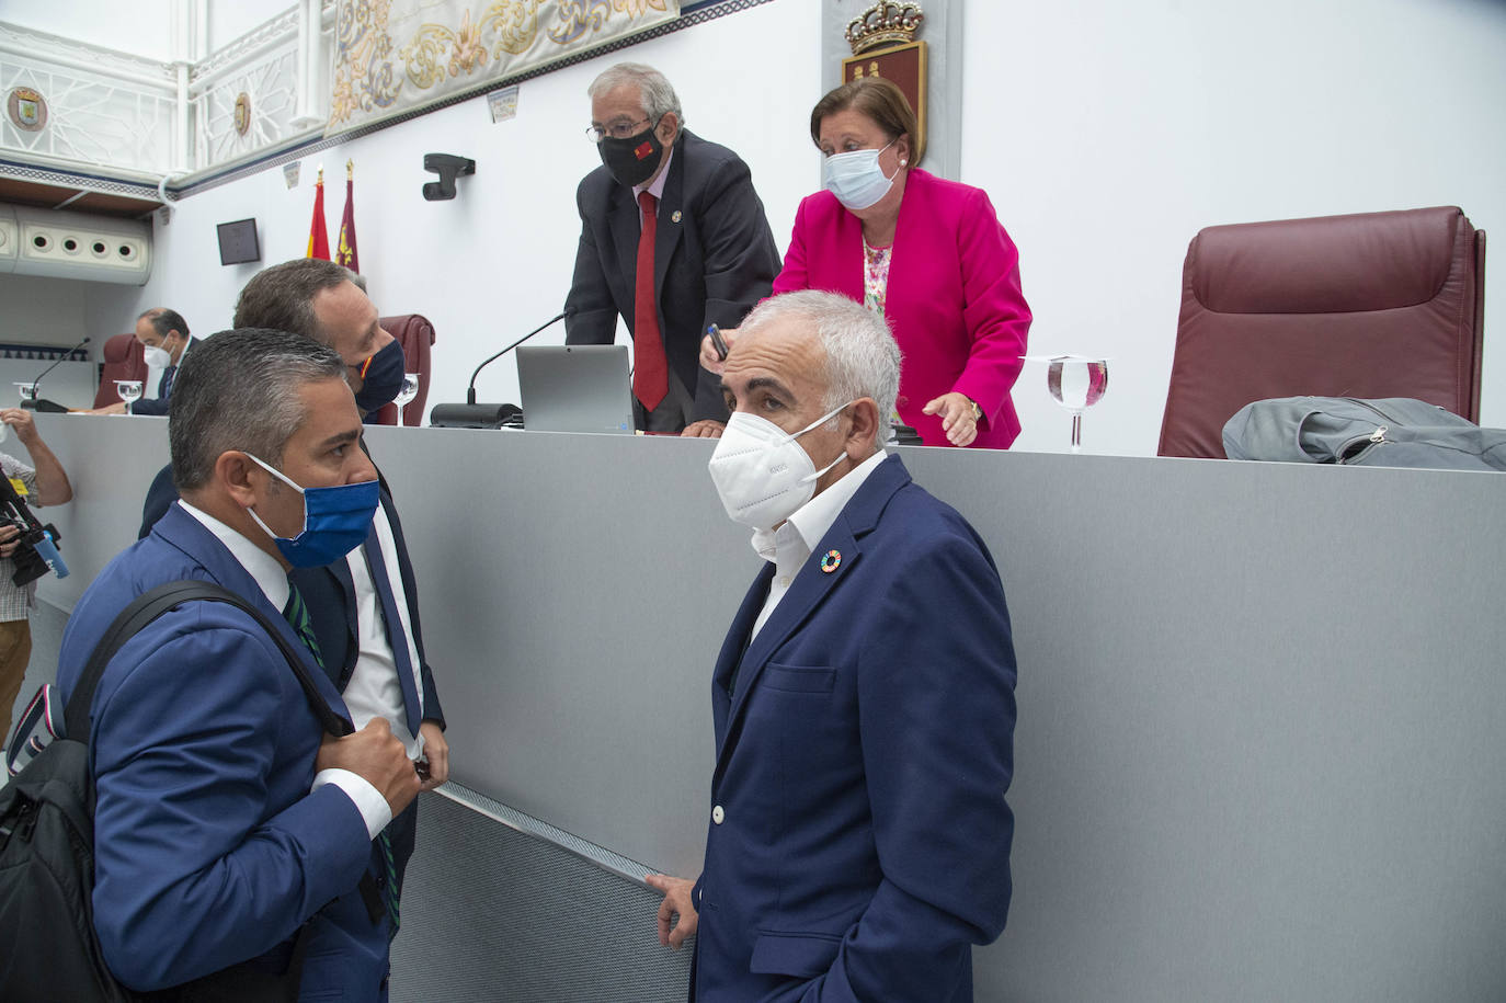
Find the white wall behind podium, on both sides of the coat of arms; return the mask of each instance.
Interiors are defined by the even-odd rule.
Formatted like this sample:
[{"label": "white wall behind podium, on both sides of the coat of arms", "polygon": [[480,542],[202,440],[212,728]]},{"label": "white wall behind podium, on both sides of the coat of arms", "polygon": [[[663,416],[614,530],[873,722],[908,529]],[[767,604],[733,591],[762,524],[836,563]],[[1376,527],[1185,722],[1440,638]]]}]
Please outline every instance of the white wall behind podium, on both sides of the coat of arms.
[{"label": "white wall behind podium, on both sides of the coat of arms", "polygon": [[[1108,396],[1084,422],[1090,452],[1155,452],[1197,229],[1461,205],[1506,235],[1506,5],[970,0],[965,18],[962,179],[989,190],[1020,244],[1032,351],[1113,358]],[[113,333],[167,304],[194,331],[224,327],[255,268],[218,265],[214,224],[255,215],[267,264],[303,255],[322,163],[333,241],[349,157],[376,303],[435,322],[429,404],[458,401],[480,358],[563,303],[574,190],[598,163],[584,87],[610,62],[669,74],[690,128],[748,160],[788,242],[818,184],[806,120],[821,95],[819,20],[819,5],[776,0],[532,80],[511,122],[492,125],[477,98],[306,158],[294,191],[268,170],[191,196],[157,229],[151,283],[92,289],[87,319]],[[419,194],[425,152],[477,161],[456,200]],[[1486,271],[1482,420],[1506,425],[1506,267]],[[1017,387],[1017,447],[1060,450],[1068,417],[1042,383],[1027,369]],[[506,360],[479,386],[483,401],[518,399]]]}]

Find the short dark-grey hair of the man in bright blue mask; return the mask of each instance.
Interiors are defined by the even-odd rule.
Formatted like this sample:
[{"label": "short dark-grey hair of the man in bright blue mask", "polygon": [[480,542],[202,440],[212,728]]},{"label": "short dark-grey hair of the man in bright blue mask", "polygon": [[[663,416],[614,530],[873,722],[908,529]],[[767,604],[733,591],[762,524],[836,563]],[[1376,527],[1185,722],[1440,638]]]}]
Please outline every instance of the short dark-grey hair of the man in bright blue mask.
[{"label": "short dark-grey hair of the man in bright blue mask", "polygon": [[277,467],[303,425],[298,390],[345,381],[345,361],[303,334],[267,328],[220,331],[184,355],[167,405],[167,443],[178,491],[214,476],[220,453],[241,450]]}]

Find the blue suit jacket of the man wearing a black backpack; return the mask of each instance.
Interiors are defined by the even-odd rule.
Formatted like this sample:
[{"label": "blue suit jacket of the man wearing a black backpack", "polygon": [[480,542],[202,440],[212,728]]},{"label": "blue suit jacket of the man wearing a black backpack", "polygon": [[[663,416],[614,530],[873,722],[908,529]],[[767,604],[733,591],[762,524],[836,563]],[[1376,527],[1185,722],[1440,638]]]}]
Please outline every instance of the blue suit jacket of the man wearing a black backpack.
[{"label": "blue suit jacket of the man wearing a black backpack", "polygon": [[[78,601],[59,655],[65,699],[114,616],[181,578],[245,596],[301,648],[230,551],[175,508]],[[312,658],[306,667],[345,715]],[[339,788],[309,792],[324,732],[261,625],[221,602],[164,614],[110,661],[90,720],[95,928],[122,982],[155,989],[277,958],[312,917],[304,988],[375,991],[386,925],[325,908],[369,864],[366,824]]]}]

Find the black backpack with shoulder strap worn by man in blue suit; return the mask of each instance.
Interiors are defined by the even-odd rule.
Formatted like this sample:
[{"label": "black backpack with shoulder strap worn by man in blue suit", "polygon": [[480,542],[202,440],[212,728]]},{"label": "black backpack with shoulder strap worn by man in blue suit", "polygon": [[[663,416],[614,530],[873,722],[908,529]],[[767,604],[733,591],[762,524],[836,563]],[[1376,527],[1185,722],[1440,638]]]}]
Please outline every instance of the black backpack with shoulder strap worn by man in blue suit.
[{"label": "black backpack with shoulder strap worn by man in blue suit", "polygon": [[[148,623],[184,602],[209,599],[247,611],[277,642],[331,735],[351,727],[330,709],[298,654],[245,599],[209,581],[170,581],[137,596],[99,639],[68,699],[65,733],[0,789],[0,986],[11,1000],[130,1001],[294,1000],[303,932],[279,974],[238,964],[164,992],[127,989],[105,967],[93,926],[93,777],[89,708],[105,666]],[[187,934],[185,934],[187,935]]]}]

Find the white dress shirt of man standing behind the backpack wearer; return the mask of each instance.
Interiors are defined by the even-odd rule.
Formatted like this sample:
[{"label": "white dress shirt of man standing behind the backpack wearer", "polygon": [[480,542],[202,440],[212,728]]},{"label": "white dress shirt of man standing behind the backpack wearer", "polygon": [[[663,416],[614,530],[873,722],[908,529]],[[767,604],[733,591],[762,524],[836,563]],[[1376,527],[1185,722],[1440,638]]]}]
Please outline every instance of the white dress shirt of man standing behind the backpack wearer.
[{"label": "white dress shirt of man standing behind the backpack wearer", "polygon": [[[387,512],[378,505],[376,542],[381,559],[387,565],[387,581],[392,586],[398,607],[398,630],[408,645],[408,664],[413,666],[413,691],[419,694],[419,720],[423,720],[423,676],[419,667],[419,649],[413,643],[413,625],[408,622],[408,598],[402,587],[402,571],[398,566],[398,541],[392,533]],[[355,586],[355,630],[358,654],[351,679],[345,684],[345,708],[357,729],[366,727],[373,717],[386,717],[392,733],[408,748],[408,758],[417,759],[423,751],[423,738],[408,733],[408,711],[402,699],[402,682],[398,679],[398,660],[387,640],[381,598],[372,584],[372,566],[366,560],[366,548],[357,547],[345,557],[351,568],[351,583]]]}]

